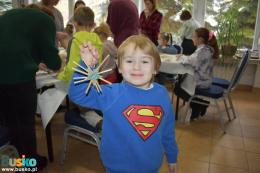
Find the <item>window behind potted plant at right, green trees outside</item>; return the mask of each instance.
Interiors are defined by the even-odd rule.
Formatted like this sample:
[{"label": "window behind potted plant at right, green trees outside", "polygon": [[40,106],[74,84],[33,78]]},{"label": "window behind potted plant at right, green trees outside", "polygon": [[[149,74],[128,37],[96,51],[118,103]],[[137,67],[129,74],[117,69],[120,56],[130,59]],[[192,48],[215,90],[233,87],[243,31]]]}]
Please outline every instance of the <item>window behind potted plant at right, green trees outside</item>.
[{"label": "window behind potted plant at right, green trees outside", "polygon": [[205,15],[206,27],[218,33],[219,24],[231,18],[232,21],[237,21],[239,25],[237,27],[239,29],[233,31],[241,34],[237,44],[238,47],[251,49],[256,14],[257,0],[208,0]]}]

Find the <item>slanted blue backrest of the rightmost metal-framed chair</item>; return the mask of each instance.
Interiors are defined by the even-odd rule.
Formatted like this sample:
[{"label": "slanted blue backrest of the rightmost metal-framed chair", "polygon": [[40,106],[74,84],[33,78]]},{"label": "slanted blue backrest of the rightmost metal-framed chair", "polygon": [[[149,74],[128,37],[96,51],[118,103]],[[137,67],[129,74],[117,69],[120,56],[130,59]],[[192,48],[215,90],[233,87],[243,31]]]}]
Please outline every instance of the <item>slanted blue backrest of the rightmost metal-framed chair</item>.
[{"label": "slanted blue backrest of the rightmost metal-framed chair", "polygon": [[243,54],[240,62],[238,63],[237,68],[235,69],[235,72],[230,81],[230,85],[228,87],[228,92],[234,90],[236,88],[236,86],[238,85],[238,82],[240,81],[241,76],[244,73],[249,60],[250,60],[250,52],[249,52],[249,50],[247,50]]}]

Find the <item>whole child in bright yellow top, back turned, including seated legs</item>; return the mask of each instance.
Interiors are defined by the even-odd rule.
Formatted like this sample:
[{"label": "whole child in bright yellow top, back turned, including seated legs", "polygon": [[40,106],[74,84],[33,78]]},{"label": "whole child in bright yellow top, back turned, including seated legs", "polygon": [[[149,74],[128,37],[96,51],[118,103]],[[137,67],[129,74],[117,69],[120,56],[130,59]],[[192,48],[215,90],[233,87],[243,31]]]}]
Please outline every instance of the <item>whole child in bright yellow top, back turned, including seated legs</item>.
[{"label": "whole child in bright yellow top, back turned, including seated legs", "polygon": [[[58,75],[58,79],[64,81],[69,85],[73,75],[73,67],[77,65],[74,63],[80,63],[80,46],[85,42],[90,42],[95,48],[97,48],[97,54],[102,55],[103,44],[96,33],[91,32],[95,26],[94,12],[89,7],[79,7],[76,9],[73,17],[76,33],[69,42],[67,48],[67,64],[63,71]],[[92,109],[81,108],[75,105],[75,110],[80,112],[80,116],[83,117],[87,123],[93,127],[97,127],[100,131],[99,124],[102,123],[102,117]]]}]

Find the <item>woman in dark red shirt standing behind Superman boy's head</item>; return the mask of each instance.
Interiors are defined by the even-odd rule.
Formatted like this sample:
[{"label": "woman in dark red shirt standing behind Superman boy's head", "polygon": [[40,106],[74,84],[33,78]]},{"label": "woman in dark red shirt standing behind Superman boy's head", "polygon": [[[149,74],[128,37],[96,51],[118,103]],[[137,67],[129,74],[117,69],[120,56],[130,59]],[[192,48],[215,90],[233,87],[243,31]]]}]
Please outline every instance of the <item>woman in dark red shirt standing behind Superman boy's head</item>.
[{"label": "woman in dark red shirt standing behind Superman boy's head", "polygon": [[141,32],[157,46],[163,16],[156,9],[156,0],[144,0],[144,4],[145,9],[140,15]]}]

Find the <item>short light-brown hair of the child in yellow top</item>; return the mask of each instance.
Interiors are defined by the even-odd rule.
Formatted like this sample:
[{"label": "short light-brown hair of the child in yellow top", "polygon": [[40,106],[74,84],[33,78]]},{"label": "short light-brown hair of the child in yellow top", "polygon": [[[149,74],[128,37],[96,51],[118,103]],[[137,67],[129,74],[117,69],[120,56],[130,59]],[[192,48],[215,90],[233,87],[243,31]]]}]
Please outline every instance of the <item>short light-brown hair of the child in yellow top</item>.
[{"label": "short light-brown hair of the child in yellow top", "polygon": [[80,26],[94,26],[95,14],[93,10],[89,7],[79,7],[76,9],[73,20],[74,22],[77,22]]}]

